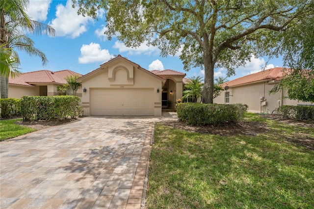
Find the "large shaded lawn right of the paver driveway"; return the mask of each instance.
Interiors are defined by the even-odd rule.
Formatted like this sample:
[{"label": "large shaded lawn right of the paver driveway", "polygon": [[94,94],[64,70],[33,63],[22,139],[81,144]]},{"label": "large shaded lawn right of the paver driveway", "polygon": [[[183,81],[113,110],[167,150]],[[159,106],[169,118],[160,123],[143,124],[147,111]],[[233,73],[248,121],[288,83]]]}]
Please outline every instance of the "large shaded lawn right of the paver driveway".
[{"label": "large shaded lawn right of the paver driveway", "polygon": [[314,138],[314,129],[256,114],[244,120],[265,123],[269,130],[225,137],[157,123],[148,208],[314,208],[314,152],[285,140],[299,134]]}]

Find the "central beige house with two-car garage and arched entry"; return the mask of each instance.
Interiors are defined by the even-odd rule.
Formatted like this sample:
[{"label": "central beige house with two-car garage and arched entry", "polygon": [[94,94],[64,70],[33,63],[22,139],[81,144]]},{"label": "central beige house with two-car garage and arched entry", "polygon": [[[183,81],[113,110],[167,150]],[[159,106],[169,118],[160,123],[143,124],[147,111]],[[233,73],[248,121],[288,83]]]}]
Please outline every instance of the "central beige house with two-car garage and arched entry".
[{"label": "central beige house with two-car garage and arched entry", "polygon": [[84,115],[160,116],[182,98],[184,73],[148,71],[121,55],[80,77]]}]

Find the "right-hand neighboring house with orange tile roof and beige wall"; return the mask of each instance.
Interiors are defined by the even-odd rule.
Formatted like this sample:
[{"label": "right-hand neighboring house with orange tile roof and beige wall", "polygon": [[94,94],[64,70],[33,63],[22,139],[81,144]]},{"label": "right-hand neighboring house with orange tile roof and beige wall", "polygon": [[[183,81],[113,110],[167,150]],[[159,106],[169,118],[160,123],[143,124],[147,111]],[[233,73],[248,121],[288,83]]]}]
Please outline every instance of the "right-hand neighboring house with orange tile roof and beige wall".
[{"label": "right-hand neighboring house with orange tile roof and beige wall", "polygon": [[285,90],[269,94],[275,84],[280,82],[284,70],[276,67],[225,82],[222,84],[225,91],[214,99],[214,103],[247,104],[248,111],[254,113],[272,113],[281,105],[311,104],[286,98]]}]

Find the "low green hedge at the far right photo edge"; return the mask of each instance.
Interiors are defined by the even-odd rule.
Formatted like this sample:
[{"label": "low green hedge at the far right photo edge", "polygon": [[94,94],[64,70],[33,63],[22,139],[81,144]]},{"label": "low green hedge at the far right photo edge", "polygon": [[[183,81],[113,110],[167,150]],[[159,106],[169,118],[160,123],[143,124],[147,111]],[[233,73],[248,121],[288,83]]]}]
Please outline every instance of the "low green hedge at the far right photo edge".
[{"label": "low green hedge at the far right photo edge", "polygon": [[285,118],[296,118],[298,120],[307,119],[314,121],[313,105],[282,105],[279,107],[279,113]]}]

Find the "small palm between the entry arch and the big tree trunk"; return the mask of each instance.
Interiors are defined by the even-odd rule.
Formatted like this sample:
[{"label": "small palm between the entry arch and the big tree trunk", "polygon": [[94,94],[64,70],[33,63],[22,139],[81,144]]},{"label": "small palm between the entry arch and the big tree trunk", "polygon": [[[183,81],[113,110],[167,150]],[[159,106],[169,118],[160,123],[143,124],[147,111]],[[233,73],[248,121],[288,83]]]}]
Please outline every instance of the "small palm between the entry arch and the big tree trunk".
[{"label": "small palm between the entry arch and the big tree trunk", "polygon": [[184,87],[185,90],[183,91],[182,99],[192,96],[194,97],[195,102],[197,102],[197,98],[202,96],[203,85],[202,77],[193,76],[192,78],[189,78],[188,83]]}]

